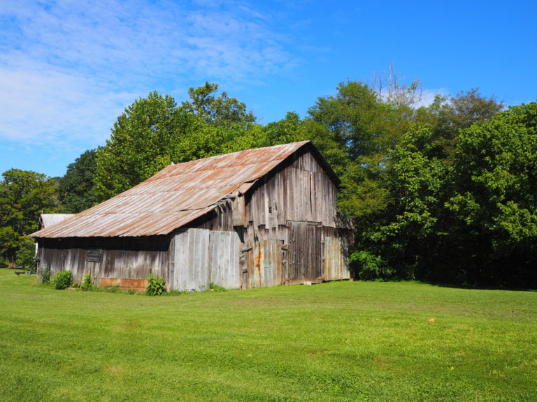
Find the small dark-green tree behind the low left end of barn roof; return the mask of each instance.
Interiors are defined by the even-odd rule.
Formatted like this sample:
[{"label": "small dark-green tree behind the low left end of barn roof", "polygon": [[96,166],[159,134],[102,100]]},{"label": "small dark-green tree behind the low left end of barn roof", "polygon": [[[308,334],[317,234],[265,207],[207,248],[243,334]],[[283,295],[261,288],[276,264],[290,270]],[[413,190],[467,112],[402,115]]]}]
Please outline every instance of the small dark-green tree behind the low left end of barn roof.
[{"label": "small dark-green tree behind the low left end of barn roof", "polygon": [[67,167],[59,181],[58,199],[62,212],[77,214],[96,204],[94,179],[97,149],[85,151]]}]

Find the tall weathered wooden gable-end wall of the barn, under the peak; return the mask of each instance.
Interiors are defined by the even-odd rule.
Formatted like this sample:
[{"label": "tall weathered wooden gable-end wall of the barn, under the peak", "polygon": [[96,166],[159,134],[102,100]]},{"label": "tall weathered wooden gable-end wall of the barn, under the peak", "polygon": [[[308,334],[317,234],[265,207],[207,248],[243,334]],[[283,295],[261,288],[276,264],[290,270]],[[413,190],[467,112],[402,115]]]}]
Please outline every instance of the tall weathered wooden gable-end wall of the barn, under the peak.
[{"label": "tall weathered wooden gable-end wall of the barn, under the peak", "polygon": [[235,220],[245,225],[241,288],[350,278],[352,230],[338,217],[337,194],[310,153],[261,179]]}]

